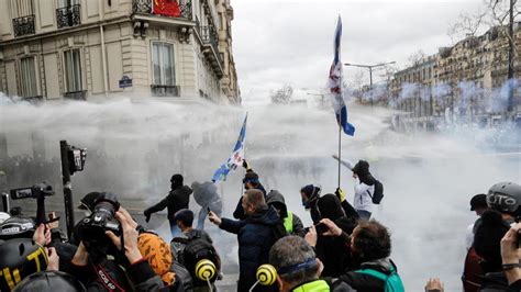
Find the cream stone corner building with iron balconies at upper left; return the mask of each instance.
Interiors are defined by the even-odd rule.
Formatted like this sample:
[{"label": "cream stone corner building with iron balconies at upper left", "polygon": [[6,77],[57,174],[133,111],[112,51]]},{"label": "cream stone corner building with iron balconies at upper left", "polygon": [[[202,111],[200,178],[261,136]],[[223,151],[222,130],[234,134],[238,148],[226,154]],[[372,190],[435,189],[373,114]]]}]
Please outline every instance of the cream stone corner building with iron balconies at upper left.
[{"label": "cream stone corner building with iron balconies at upper left", "polygon": [[0,1],[0,91],[240,103],[229,0],[178,2],[171,18],[152,0]]}]

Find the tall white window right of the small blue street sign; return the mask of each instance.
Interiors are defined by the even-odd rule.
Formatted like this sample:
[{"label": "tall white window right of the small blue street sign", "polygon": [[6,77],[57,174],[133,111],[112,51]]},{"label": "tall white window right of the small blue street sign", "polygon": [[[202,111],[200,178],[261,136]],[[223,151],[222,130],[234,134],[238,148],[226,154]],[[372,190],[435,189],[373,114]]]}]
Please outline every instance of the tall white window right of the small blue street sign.
[{"label": "tall white window right of the small blue street sign", "polygon": [[152,47],[152,66],[154,71],[152,82],[157,86],[175,86],[174,45],[153,43]]}]

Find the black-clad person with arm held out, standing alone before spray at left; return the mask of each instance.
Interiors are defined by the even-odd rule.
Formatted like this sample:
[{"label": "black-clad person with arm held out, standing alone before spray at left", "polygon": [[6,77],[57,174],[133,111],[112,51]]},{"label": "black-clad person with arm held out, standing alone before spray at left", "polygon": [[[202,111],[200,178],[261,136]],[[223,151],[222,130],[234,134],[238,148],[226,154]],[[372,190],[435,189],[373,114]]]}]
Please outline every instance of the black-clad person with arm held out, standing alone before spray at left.
[{"label": "black-clad person with arm held out, standing alone before spray at left", "polygon": [[168,207],[168,221],[170,223],[171,237],[179,236],[181,231],[177,227],[176,220],[174,214],[181,209],[188,209],[190,202],[190,194],[192,190],[188,186],[182,184],[182,176],[174,175],[170,178],[170,192],[165,196],[159,203],[146,209],[143,214],[145,215],[145,221],[151,220],[151,215],[158,211]]}]

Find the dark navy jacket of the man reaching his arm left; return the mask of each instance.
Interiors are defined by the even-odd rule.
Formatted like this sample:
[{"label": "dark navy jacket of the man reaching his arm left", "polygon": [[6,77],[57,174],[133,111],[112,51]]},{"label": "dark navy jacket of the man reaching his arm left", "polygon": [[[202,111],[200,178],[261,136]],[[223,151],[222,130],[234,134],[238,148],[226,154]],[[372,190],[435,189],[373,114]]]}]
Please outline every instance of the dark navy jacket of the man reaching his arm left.
[{"label": "dark navy jacket of the man reaching his arm left", "polygon": [[[284,228],[274,207],[246,217],[244,221],[222,218],[219,227],[237,235],[239,283],[237,291],[248,291],[256,281],[255,273],[269,262],[269,249],[276,242],[274,229]],[[278,291],[277,285],[257,285],[254,291]]]}]

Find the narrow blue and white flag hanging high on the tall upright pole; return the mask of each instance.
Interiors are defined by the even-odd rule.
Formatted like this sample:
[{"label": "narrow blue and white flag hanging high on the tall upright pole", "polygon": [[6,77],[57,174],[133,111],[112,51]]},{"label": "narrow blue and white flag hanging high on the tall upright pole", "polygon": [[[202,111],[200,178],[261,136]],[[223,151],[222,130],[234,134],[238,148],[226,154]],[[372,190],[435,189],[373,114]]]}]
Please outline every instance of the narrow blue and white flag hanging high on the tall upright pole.
[{"label": "narrow blue and white flag hanging high on the tall upright pole", "polygon": [[334,59],[330,68],[329,88],[333,97],[333,108],[336,122],[344,130],[344,133],[354,136],[355,127],[347,122],[347,106],[345,106],[342,93],[342,61],[340,60],[340,44],[342,38],[342,19],[339,15],[336,30],[334,33]]}]

